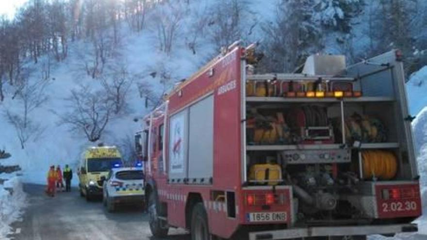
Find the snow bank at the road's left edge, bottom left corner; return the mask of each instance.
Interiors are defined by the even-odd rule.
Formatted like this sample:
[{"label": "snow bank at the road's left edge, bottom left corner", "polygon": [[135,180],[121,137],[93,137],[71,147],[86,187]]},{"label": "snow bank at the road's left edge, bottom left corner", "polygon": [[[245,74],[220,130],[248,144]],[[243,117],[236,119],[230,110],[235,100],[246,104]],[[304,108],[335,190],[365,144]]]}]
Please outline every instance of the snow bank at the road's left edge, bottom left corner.
[{"label": "snow bank at the road's left edge, bottom left corner", "polygon": [[[0,175],[3,178],[5,175]],[[26,206],[26,194],[19,176],[13,176],[0,185],[0,239],[11,233],[10,224],[20,219]]]}]

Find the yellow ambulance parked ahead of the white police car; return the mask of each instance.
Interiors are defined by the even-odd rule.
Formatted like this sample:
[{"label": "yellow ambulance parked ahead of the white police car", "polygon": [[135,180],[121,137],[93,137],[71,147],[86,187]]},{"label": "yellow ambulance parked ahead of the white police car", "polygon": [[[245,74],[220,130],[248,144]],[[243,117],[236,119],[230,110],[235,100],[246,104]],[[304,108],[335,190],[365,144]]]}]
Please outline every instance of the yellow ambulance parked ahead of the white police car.
[{"label": "yellow ambulance parked ahead of the white police car", "polygon": [[102,196],[102,186],[112,168],[123,165],[120,151],[115,146],[88,147],[83,153],[77,174],[80,195],[86,200]]}]

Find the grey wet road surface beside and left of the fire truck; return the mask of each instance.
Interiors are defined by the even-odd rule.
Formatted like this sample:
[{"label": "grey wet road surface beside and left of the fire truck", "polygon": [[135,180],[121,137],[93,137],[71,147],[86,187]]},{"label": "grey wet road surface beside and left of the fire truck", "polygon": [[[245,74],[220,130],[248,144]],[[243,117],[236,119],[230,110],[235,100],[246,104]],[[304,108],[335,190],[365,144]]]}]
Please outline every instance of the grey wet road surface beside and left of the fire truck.
[{"label": "grey wet road surface beside and left of the fire truck", "polygon": [[[13,225],[15,240],[154,240],[148,216],[134,207],[108,213],[101,201],[86,202],[76,189],[49,198],[44,186],[24,185],[30,206]],[[183,230],[170,230],[163,240],[189,240]]]}]

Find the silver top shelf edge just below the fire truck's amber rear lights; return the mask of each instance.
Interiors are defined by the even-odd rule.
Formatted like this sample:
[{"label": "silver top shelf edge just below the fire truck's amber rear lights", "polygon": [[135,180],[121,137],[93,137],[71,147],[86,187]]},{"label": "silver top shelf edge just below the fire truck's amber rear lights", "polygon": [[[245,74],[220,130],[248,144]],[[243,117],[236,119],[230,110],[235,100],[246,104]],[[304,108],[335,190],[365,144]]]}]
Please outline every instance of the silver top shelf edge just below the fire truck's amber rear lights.
[{"label": "silver top shelf edge just below the fire truck's amber rear lights", "polygon": [[[344,102],[393,102],[393,97],[386,96],[361,96],[361,97],[345,97],[343,98]],[[260,97],[260,96],[248,96],[246,97],[246,102],[331,102],[339,103],[341,99],[333,97],[279,97],[279,96],[269,96],[269,97]]]}]

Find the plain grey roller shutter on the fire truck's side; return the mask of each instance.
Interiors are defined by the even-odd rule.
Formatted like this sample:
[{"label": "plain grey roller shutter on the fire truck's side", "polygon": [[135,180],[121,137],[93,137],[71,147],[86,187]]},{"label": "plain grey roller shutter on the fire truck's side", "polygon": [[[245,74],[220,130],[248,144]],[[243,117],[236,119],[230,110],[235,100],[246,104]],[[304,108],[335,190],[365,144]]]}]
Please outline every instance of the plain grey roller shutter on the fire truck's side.
[{"label": "plain grey roller shutter on the fire truck's side", "polygon": [[188,178],[204,179],[213,176],[213,95],[190,107]]}]

